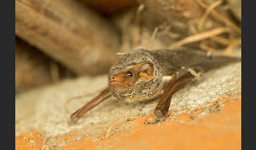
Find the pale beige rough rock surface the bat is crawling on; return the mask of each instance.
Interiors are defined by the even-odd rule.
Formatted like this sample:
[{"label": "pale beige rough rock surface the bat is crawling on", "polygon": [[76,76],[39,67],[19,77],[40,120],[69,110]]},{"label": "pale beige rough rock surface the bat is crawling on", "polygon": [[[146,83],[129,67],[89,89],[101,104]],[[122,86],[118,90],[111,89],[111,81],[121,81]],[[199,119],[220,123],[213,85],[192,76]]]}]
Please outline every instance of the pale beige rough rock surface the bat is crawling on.
[{"label": "pale beige rough rock surface the bat is crawling on", "polygon": [[[241,51],[237,51],[237,53],[238,56],[241,56]],[[76,133],[76,136],[72,136],[72,139],[75,138],[76,141],[84,141],[84,139],[99,141],[102,140],[101,137],[107,128],[118,117],[143,117],[153,113],[158,100],[127,104],[110,98],[85,114],[75,125],[70,125],[70,114],[65,110],[67,100],[86,93],[99,93],[99,90],[104,89],[107,85],[106,77],[107,75],[94,78],[84,76],[17,95],[15,105],[16,138],[21,137],[19,135],[24,136],[22,133],[39,132],[48,139],[43,143],[50,143],[51,146],[57,147],[68,144],[68,139],[71,139],[70,136],[73,133]],[[241,62],[238,62],[205,73],[199,81],[178,91],[173,96],[169,110],[184,113],[183,110],[208,107],[211,102],[240,92]],[[91,97],[71,101],[67,105],[68,110],[76,111],[90,101],[96,93]],[[205,111],[200,116],[210,113],[211,111]],[[129,127],[116,128],[116,131],[119,132],[126,130],[130,130]],[[113,135],[110,134],[110,136]],[[53,137],[60,139],[66,136],[66,141],[62,144],[51,143]]]}]

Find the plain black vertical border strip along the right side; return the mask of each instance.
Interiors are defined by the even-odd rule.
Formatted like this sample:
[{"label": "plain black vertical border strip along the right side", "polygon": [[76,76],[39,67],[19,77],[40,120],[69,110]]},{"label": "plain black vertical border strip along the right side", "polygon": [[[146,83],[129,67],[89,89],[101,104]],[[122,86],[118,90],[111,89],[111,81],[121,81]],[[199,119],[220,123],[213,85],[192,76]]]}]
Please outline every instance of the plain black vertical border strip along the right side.
[{"label": "plain black vertical border strip along the right side", "polygon": [[[247,4],[245,4],[247,2]],[[241,149],[254,149],[255,118],[255,4],[242,0],[242,123]],[[248,34],[249,33],[249,34]],[[251,34],[251,35],[250,35]],[[251,60],[250,60],[251,59]],[[251,84],[251,85],[250,85]],[[251,135],[250,135],[251,134]]]}]

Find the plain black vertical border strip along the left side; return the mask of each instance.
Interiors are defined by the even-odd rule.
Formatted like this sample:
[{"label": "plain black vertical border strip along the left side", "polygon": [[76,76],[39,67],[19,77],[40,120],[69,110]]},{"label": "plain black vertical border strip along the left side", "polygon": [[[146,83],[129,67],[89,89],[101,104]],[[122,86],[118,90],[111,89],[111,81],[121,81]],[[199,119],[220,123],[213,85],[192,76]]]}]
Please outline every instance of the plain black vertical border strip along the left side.
[{"label": "plain black vertical border strip along the left side", "polygon": [[[15,145],[15,1],[1,1],[1,124],[5,145]],[[10,143],[11,142],[11,143]],[[10,148],[7,148],[10,149]]]}]

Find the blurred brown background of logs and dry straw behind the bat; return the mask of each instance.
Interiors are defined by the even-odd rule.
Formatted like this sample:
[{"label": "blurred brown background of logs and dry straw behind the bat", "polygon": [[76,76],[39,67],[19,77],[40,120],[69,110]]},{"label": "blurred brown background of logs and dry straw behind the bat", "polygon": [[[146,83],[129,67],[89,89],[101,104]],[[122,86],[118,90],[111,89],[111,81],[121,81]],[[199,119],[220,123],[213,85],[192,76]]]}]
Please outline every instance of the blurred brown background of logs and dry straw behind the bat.
[{"label": "blurred brown background of logs and dry straw behind the bat", "polygon": [[16,0],[16,94],[106,74],[136,48],[230,55],[241,45],[239,0]]}]

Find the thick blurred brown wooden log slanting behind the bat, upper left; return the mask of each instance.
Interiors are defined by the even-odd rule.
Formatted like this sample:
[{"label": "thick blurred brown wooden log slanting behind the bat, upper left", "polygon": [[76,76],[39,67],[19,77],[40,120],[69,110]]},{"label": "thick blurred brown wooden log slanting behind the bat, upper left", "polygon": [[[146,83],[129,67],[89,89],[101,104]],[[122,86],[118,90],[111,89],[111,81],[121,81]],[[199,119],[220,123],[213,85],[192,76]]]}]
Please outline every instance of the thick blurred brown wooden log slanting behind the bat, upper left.
[{"label": "thick blurred brown wooden log slanting behind the bat, upper left", "polygon": [[79,2],[16,0],[15,6],[16,35],[77,74],[107,72],[116,61],[117,30]]}]

